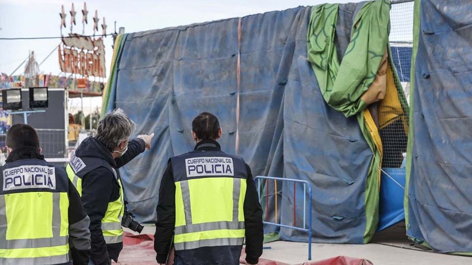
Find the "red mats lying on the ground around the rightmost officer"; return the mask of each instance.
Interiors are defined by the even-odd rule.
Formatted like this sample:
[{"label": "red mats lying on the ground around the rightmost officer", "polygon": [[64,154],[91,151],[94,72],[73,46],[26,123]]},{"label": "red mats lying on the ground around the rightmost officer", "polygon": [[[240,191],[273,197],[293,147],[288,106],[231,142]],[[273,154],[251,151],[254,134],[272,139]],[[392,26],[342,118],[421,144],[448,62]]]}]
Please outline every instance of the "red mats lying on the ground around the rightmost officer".
[{"label": "red mats lying on the ground around the rightmost officer", "polygon": [[[245,249],[241,252],[239,262],[246,264]],[[173,257],[172,257],[173,260]],[[123,250],[119,254],[120,265],[148,265],[156,264],[156,253],[154,252],[154,236],[143,234],[133,235],[124,232],[123,235]],[[171,265],[172,262],[169,264]],[[288,265],[286,263],[259,259],[259,265]],[[368,260],[339,256],[316,262],[306,262],[303,265],[372,265]]]}]

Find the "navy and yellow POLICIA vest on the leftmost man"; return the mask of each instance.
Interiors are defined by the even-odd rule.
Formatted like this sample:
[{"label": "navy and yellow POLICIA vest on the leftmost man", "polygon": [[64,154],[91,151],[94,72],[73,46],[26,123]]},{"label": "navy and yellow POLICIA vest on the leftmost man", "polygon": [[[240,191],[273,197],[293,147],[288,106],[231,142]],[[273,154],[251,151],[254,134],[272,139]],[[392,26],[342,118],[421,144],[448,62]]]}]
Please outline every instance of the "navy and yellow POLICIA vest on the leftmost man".
[{"label": "navy and yellow POLICIA vest on the leftmost man", "polygon": [[57,166],[24,159],[0,167],[0,264],[69,261],[68,179]]}]

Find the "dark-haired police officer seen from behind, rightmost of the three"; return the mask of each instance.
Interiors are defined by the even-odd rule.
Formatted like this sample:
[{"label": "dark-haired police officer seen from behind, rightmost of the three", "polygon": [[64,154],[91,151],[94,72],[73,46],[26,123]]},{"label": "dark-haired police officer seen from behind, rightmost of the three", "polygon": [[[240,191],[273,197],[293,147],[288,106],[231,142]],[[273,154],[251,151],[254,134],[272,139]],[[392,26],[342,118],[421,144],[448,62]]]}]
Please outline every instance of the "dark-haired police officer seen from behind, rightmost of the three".
[{"label": "dark-haired police officer seen from behind, rightmost of the three", "polygon": [[238,265],[246,238],[246,264],[262,255],[263,223],[251,169],[221,151],[218,118],[192,122],[195,150],[169,159],[157,205],[154,249],[165,264],[174,236],[175,265]]}]

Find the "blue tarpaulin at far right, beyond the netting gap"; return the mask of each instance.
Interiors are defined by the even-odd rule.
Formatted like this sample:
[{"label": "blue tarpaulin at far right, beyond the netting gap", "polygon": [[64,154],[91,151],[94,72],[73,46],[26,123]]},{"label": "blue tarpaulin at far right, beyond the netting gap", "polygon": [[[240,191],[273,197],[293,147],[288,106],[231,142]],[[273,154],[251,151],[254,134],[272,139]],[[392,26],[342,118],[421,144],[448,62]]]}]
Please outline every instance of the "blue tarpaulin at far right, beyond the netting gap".
[{"label": "blue tarpaulin at far right, beyond the netting gap", "polygon": [[440,252],[472,252],[472,6],[418,3],[407,235]]}]

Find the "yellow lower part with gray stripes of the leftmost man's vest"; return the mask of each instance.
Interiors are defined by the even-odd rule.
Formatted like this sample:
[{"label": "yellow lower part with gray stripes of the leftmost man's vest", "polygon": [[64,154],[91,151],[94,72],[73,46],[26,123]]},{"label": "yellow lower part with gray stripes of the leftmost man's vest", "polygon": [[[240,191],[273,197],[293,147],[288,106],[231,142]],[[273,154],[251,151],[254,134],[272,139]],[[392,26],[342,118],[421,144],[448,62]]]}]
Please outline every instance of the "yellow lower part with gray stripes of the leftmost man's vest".
[{"label": "yellow lower part with gray stripes of the leftmost man's vest", "polygon": [[68,208],[67,192],[0,195],[0,264],[68,262]]}]

